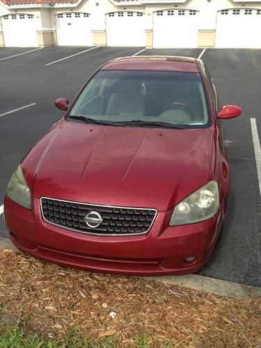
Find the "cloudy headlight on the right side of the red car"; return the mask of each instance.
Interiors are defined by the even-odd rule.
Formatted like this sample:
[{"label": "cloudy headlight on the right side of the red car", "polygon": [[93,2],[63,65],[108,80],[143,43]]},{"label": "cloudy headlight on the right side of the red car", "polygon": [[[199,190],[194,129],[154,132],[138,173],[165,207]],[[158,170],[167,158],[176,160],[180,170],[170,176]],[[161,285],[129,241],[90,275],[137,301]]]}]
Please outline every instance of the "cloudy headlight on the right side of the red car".
[{"label": "cloudy headlight on the right side of the red car", "polygon": [[212,218],[218,208],[219,187],[216,181],[209,181],[175,206],[170,226],[205,221]]}]

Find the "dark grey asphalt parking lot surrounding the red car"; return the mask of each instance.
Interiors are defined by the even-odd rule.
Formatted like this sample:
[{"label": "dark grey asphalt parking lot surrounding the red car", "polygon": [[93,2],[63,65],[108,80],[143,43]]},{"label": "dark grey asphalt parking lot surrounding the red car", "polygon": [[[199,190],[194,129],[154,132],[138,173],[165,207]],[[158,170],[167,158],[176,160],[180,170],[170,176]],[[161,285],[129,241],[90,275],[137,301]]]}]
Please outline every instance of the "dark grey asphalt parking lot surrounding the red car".
[{"label": "dark grey asphalt parking lot surrounding the red car", "polygon": [[[261,182],[251,131],[253,118],[261,139],[261,50],[1,48],[0,237],[8,237],[1,207],[10,175],[40,136],[63,115],[54,107],[54,100],[57,97],[72,100],[79,87],[102,63],[134,54],[196,58],[203,54],[221,104],[242,106],[244,113],[240,118],[223,121],[230,161],[230,199],[223,237],[211,264],[201,274],[261,286]],[[261,166],[260,159],[258,163]]]}]

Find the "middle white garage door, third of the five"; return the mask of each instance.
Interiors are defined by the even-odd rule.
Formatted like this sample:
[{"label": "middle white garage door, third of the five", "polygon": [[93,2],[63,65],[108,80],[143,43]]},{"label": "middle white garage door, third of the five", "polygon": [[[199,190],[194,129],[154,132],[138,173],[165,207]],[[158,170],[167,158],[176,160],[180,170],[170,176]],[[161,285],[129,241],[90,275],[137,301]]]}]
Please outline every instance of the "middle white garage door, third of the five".
[{"label": "middle white garage door, third of the five", "polygon": [[106,15],[107,46],[145,46],[145,20],[141,12],[113,12]]}]

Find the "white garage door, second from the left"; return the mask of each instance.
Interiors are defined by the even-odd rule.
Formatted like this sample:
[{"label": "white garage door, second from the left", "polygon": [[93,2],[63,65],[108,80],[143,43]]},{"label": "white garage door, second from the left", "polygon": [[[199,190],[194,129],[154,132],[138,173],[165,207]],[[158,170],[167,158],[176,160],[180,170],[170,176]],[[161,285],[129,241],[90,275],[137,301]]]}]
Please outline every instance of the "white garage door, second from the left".
[{"label": "white garage door, second from the left", "polygon": [[92,46],[93,31],[88,13],[60,13],[56,15],[58,46]]}]

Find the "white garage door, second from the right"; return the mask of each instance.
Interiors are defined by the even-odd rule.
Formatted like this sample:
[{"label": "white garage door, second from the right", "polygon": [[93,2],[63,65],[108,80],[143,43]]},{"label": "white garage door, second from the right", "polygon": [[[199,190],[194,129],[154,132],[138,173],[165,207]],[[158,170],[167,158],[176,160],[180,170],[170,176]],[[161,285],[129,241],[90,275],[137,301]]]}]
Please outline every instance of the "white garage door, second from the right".
[{"label": "white garage door, second from the right", "polygon": [[153,47],[194,48],[198,46],[199,12],[162,10],[153,15]]}]

